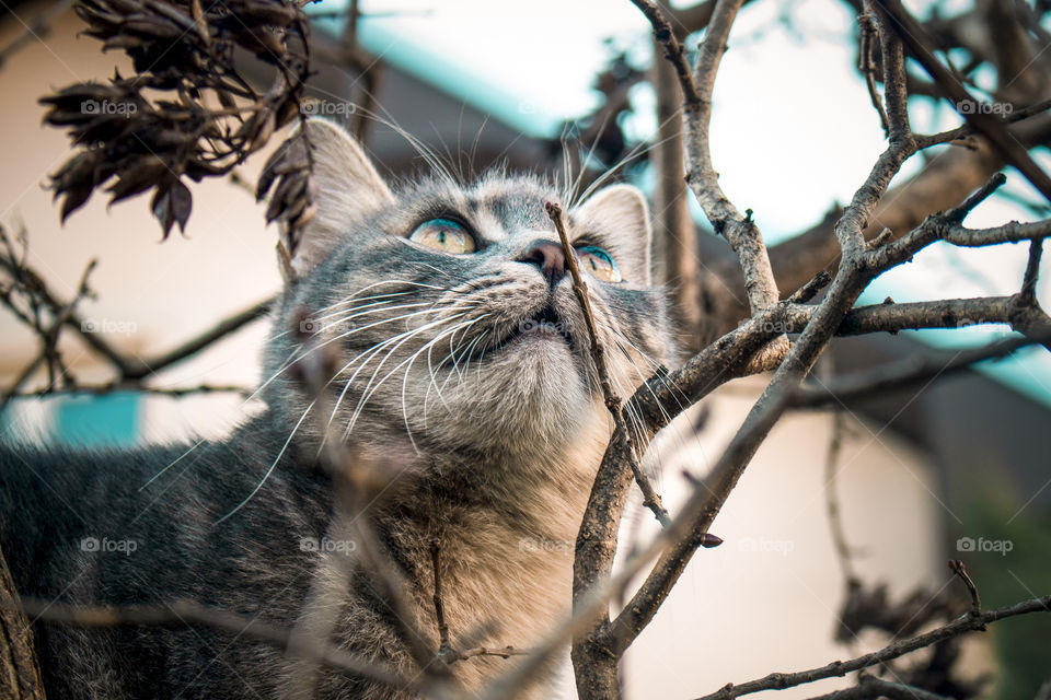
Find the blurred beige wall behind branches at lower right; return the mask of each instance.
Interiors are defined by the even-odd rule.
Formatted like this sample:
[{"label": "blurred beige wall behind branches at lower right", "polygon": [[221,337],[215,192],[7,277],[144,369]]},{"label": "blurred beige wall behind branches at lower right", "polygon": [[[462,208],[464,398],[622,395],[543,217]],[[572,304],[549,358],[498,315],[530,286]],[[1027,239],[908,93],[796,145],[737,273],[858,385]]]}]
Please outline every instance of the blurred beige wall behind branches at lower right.
[{"label": "blurred beige wall behind branches at lower right", "polygon": [[[736,382],[706,404],[698,438],[667,435],[662,491],[675,504],[685,495],[680,476],[703,476],[759,396],[760,377]],[[689,421],[677,425],[688,429]],[[866,583],[889,582],[893,599],[949,580],[937,534],[943,513],[924,456],[879,425],[846,420],[838,492],[843,525],[861,552],[855,565]],[[654,622],[627,655],[632,698],[694,698],[727,682],[773,670],[802,670],[882,646],[863,635],[852,648],[832,641],[843,603],[843,575],[825,515],[829,413],[794,413],[763,443],[712,532],[725,539],[701,549]],[[674,444],[679,443],[679,450]],[[652,516],[642,522],[656,532]],[[988,667],[980,650],[977,667]],[[807,698],[843,687],[842,679],[770,697]]]}]

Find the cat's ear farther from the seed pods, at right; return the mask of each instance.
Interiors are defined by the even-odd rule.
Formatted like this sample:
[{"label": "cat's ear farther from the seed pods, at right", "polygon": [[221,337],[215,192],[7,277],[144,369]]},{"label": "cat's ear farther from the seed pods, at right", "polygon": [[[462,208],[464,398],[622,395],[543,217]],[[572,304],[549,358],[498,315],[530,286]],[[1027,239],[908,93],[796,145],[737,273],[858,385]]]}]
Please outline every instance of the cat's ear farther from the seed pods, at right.
[{"label": "cat's ear farther from the seed pods, at right", "polygon": [[588,229],[611,242],[624,279],[651,284],[649,207],[646,197],[632,185],[611,185],[589,197],[574,215]]}]

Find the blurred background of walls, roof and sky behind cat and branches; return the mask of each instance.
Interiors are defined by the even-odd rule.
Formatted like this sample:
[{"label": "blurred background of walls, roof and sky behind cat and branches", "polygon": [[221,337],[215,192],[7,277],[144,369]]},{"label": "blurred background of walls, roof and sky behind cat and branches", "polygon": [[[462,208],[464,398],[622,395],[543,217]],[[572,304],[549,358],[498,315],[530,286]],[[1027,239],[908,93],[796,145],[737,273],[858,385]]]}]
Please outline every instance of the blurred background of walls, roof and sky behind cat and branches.
[{"label": "blurred background of walls, roof and sky behind cat and branches", "polygon": [[[9,234],[26,234],[28,265],[60,300],[74,296],[84,267],[99,260],[91,277],[96,299],[78,306],[85,334],[67,334],[61,343],[78,383],[106,385],[113,378],[111,364],[85,342],[86,335],[102,334],[149,365],[278,293],[277,234],[264,225],[264,206],[251,191],[276,143],[241,166],[236,182],[192,186],[194,212],[184,235],[161,242],[145,198],[108,208],[96,197],[59,223],[46,182],[70,144],[59,130],[42,127],[37,100],[68,83],[103,80],[115,69],[131,72],[130,63],[78,36],[83,24],[70,2],[0,4],[0,224]],[[1012,3],[905,4],[954,37],[944,55],[970,68],[975,90],[991,102],[1009,92],[1015,79],[997,71],[995,36],[982,21],[990,7]],[[1047,3],[1015,5],[1036,18],[1028,33],[1035,58],[1024,70],[1051,75]],[[693,16],[691,3],[674,8],[683,22]],[[620,166],[617,177],[659,196],[650,149],[660,141],[662,122],[651,80],[652,45],[648,24],[626,0],[324,0],[308,13],[316,15],[311,108],[355,130],[385,176],[426,171],[405,136],[411,135],[465,176],[497,162],[559,176],[568,163],[587,184]],[[856,67],[856,15],[857,8],[842,0],[757,0],[746,4],[730,36],[714,96],[713,160],[729,198],[755,212],[771,245],[806,234],[848,201],[885,148]],[[694,47],[697,36],[692,34],[688,46]],[[1051,96],[1048,80],[1033,84],[1029,94],[1015,97],[1019,104]],[[961,122],[944,101],[917,94],[911,103],[917,132]],[[1046,142],[1035,137],[1027,145],[1048,166]],[[893,197],[922,203],[924,195],[910,192],[910,183],[939,167],[939,160],[952,161],[959,150],[945,145],[914,156],[896,179],[901,187]],[[1007,177],[1003,194],[975,210],[969,225],[1047,218],[1039,194],[1013,171]],[[660,218],[663,210],[655,212]],[[697,232],[698,269],[724,264],[726,244],[711,233],[692,200],[688,214]],[[974,250],[934,245],[880,278],[862,302],[1009,295],[1018,290],[1026,254],[1024,245]],[[665,258],[658,255],[658,261],[666,278],[673,278]],[[1051,300],[1047,276],[1037,293]],[[968,326],[840,340],[820,371],[864,369],[1008,332]],[[239,325],[207,350],[147,374],[147,384],[251,389],[259,380],[267,334],[265,317]],[[37,353],[36,336],[0,312],[0,386],[11,386]],[[761,392],[761,380],[724,387],[654,446],[650,459],[671,508],[688,492],[682,470],[704,476]],[[42,371],[32,374],[22,392],[47,381]],[[14,397],[0,413],[0,430],[3,440],[78,445],[215,436],[256,408],[246,396],[107,390]],[[926,603],[958,587],[945,565],[949,558],[965,559],[986,606],[1047,594],[1049,427],[1051,355],[1043,349],[920,390],[789,416],[715,523],[713,532],[726,544],[695,557],[628,652],[628,696],[695,697],[729,681],[853,656],[900,631],[868,630],[836,640],[846,586],[828,517],[830,489],[839,495],[858,579],[869,587],[886,582],[891,600],[922,587]],[[841,446],[830,457],[833,441]],[[624,541],[648,537],[649,520],[636,505],[625,518]],[[983,550],[982,542],[1000,545]],[[1051,676],[1049,640],[1048,619],[1009,620],[965,644],[958,667],[966,668],[965,677],[993,674],[984,697],[1032,698]],[[828,680],[777,696],[810,697],[843,685]],[[567,693],[570,686],[567,681]]]}]

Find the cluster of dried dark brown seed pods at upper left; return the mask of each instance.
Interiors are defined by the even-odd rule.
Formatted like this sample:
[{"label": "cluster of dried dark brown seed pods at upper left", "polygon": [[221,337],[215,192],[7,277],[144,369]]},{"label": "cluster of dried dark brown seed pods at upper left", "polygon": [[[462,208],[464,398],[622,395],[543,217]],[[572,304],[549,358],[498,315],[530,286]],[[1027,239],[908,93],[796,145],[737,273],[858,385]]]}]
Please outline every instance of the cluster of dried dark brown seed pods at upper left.
[{"label": "cluster of dried dark brown seed pods at upper left", "polygon": [[[84,33],[104,50],[127,52],[136,72],[41,100],[44,121],[66,128],[82,147],[51,177],[63,219],[97,187],[106,187],[111,203],[153,189],[151,209],[166,237],[175,223],[186,225],[192,210],[182,176],[228,174],[298,115],[309,66],[307,19],[296,2],[78,0],[74,8]],[[253,59],[239,49],[274,67],[268,91],[257,92],[243,77],[239,63]],[[206,102],[209,93],[221,107]],[[294,165],[270,175],[270,182],[290,178],[270,213],[292,229],[313,211],[305,165]]]}]

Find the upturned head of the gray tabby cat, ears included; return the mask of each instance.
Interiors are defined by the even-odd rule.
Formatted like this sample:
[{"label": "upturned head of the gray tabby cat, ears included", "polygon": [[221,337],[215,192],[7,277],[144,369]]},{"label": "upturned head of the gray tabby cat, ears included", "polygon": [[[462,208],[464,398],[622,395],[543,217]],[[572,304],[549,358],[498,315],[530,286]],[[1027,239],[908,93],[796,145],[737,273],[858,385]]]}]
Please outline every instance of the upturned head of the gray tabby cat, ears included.
[{"label": "upturned head of the gray tabby cat, ears included", "polygon": [[[590,336],[558,235],[559,194],[530,177],[450,179],[392,192],[336,127],[311,121],[317,214],[299,242],[278,330],[336,352],[323,419],[349,440],[411,436],[421,452],[529,452],[571,441],[604,411]],[[614,389],[624,398],[671,352],[650,287],[637,190],[566,213]],[[307,318],[305,322],[302,318]],[[270,373],[297,348],[274,343]],[[299,390],[297,410],[310,397]],[[337,405],[334,409],[333,406]]]}]

